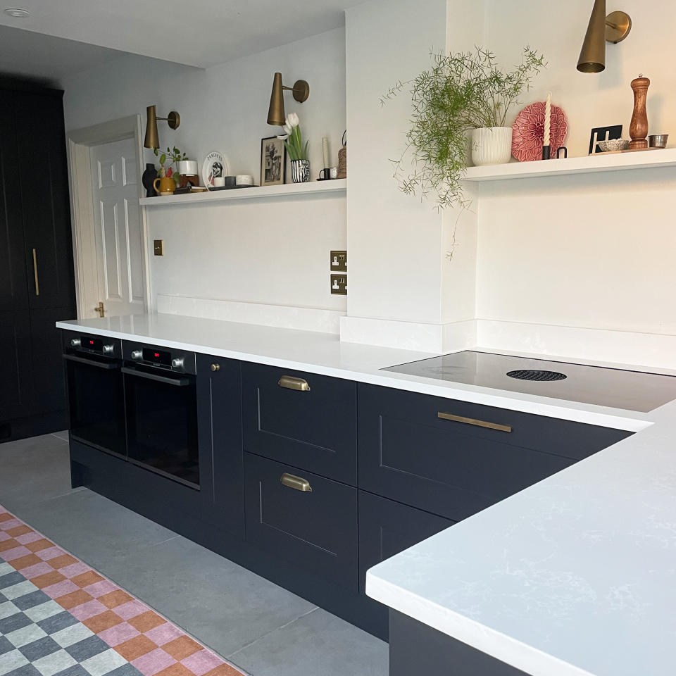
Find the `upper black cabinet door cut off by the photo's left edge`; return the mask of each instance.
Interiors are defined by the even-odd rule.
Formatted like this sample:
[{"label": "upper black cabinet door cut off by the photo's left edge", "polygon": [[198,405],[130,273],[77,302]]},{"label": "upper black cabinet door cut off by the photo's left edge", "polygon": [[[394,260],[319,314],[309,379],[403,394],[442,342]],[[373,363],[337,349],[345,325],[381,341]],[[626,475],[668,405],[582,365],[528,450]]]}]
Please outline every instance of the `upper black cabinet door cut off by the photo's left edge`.
[{"label": "upper black cabinet door cut off by the photo's left edge", "polygon": [[27,303],[14,94],[0,89],[0,313]]}]

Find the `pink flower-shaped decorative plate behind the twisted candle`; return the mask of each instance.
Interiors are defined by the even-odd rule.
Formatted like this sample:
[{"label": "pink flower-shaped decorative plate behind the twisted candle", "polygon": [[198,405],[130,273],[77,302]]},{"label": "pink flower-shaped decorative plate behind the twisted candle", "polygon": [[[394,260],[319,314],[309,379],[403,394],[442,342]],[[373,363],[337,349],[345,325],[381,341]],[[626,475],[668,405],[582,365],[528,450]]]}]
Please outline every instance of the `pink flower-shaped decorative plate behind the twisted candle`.
[{"label": "pink flower-shaped decorative plate behind the twisted candle", "polygon": [[[520,162],[542,159],[544,105],[544,101],[537,101],[526,106],[517,115],[512,125],[512,154]],[[556,151],[563,146],[567,133],[568,122],[565,119],[565,113],[558,106],[551,104],[549,145],[552,158],[556,158]]]}]

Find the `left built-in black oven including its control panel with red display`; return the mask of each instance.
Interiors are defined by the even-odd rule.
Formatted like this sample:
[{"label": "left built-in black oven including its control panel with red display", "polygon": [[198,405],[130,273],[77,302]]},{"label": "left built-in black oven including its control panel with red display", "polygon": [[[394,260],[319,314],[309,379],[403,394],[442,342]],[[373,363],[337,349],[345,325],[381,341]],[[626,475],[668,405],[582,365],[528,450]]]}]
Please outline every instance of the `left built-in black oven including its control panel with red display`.
[{"label": "left built-in black oven including its control panel with red display", "polygon": [[126,456],[120,340],[65,333],[63,360],[71,437]]}]

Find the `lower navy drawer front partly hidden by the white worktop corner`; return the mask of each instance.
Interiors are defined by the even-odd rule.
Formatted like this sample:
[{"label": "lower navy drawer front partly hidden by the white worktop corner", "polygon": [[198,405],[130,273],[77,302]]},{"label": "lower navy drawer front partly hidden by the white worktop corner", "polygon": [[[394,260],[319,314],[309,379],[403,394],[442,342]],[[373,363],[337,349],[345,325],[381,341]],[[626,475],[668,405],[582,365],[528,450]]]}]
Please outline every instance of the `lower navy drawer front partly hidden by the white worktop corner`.
[{"label": "lower navy drawer front partly hidden by the white worktop corner", "polygon": [[454,521],[359,491],[359,591],[366,571],[452,526]]}]

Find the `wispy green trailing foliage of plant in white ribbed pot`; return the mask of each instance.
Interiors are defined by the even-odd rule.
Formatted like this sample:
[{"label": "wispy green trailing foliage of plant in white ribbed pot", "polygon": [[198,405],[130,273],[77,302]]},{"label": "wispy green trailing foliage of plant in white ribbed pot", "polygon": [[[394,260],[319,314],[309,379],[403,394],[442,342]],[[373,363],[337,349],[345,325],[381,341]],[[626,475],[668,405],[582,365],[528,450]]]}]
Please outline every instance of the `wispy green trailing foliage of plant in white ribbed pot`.
[{"label": "wispy green trailing foliage of plant in white ribbed pot", "polygon": [[397,82],[381,105],[410,85],[411,129],[406,148],[394,163],[394,178],[406,194],[437,196],[437,206],[467,206],[462,180],[467,169],[468,133],[502,127],[510,108],[546,65],[544,56],[525,47],[520,65],[505,72],[492,51],[430,54],[432,67],[413,80]]}]

